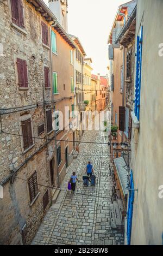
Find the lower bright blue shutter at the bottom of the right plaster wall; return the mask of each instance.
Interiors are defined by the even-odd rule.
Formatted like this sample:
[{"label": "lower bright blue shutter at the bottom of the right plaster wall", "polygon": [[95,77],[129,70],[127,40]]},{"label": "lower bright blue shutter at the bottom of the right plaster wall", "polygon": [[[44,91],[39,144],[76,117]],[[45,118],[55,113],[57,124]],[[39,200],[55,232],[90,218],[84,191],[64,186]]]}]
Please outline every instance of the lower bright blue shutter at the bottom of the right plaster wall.
[{"label": "lower bright blue shutter at the bottom of the right plaster wall", "polygon": [[[133,171],[130,174],[130,188],[134,189]],[[131,228],[133,219],[134,190],[129,190],[128,211],[127,211],[127,244],[131,242]]]}]

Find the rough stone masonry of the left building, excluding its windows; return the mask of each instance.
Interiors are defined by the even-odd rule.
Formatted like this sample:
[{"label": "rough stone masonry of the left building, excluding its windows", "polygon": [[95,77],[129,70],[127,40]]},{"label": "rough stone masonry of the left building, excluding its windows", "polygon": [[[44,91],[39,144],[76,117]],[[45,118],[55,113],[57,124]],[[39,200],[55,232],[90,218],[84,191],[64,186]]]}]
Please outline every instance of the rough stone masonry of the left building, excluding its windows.
[{"label": "rough stone masonry of the left building, excluding its windows", "polygon": [[[35,11],[32,5],[23,1],[24,20],[26,33],[22,33],[11,26],[10,1],[0,1],[0,107],[15,108],[36,103],[43,103],[52,99],[52,89],[44,89],[44,66],[50,67],[50,51],[48,47],[42,45],[41,21],[46,20]],[[48,25],[48,23],[47,23]],[[48,25],[49,26],[49,25]],[[17,85],[16,58],[27,60],[29,89],[20,91]],[[15,111],[15,110],[11,110]],[[30,114],[33,123],[33,134],[38,137],[37,126],[45,124],[46,117],[43,104],[37,108],[16,111],[11,114],[1,116],[3,132],[20,134],[20,118],[24,114]],[[54,134],[50,134],[52,137]],[[50,154],[45,145],[41,151],[39,148],[46,143],[46,132],[34,139],[34,146],[26,153],[23,153],[21,136],[1,133],[0,140],[0,182],[7,179],[11,174],[9,165],[15,163],[15,169],[24,163],[27,158],[33,156],[26,164],[18,169],[12,183],[9,180],[3,183],[4,198],[1,200],[1,224],[0,224],[0,244],[29,244],[39,224],[51,204],[51,189],[49,188],[49,204],[43,212],[42,197],[47,187],[51,186],[49,177],[49,160],[54,153]],[[54,151],[54,143],[49,143]],[[30,175],[37,171],[37,181],[43,186],[39,186],[39,196],[33,205],[30,205],[29,188],[27,180]],[[26,225],[24,227],[24,225]],[[24,227],[24,231],[22,231]]]}]

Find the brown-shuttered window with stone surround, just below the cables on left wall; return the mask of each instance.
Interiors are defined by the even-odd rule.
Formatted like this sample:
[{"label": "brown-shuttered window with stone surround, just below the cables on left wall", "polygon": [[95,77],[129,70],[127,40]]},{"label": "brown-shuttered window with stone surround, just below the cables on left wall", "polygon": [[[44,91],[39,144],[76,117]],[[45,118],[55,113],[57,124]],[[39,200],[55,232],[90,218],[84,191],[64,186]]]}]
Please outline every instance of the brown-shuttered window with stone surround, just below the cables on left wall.
[{"label": "brown-shuttered window with stone surround, just below the cables on left wall", "polygon": [[33,145],[33,133],[32,133],[32,120],[21,121],[22,138],[23,138],[23,151],[26,151]]}]

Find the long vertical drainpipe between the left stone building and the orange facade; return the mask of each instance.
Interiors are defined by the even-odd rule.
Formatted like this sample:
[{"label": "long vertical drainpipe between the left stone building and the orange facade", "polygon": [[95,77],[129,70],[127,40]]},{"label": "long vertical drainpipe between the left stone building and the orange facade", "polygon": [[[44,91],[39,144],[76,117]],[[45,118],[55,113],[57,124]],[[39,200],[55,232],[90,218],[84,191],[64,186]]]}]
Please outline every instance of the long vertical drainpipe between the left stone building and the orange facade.
[{"label": "long vertical drainpipe between the left stone building and the orange facade", "polygon": [[[54,23],[51,25],[50,29],[50,37],[51,37],[51,82],[53,86],[53,59],[52,59],[52,27],[55,27],[57,25],[57,21],[54,21]],[[53,90],[52,90],[53,93]],[[53,94],[53,101],[54,101],[54,94]],[[55,110],[55,106],[53,103],[53,109]],[[57,136],[56,136],[56,130],[54,129],[54,145],[55,145],[55,159],[56,159],[56,169],[57,169],[57,186],[60,187],[60,181],[59,181],[59,169],[58,169],[58,162],[57,162]]]}]

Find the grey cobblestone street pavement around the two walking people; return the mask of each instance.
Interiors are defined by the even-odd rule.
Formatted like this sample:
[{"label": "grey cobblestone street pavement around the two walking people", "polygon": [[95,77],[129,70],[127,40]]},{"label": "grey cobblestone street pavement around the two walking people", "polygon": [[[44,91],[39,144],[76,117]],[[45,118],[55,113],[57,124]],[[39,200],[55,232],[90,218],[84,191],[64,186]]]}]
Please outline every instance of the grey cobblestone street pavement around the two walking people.
[{"label": "grey cobblestone street pavement around the two walking people", "polygon": [[[100,132],[85,132],[83,141],[108,142]],[[82,176],[91,160],[96,186],[83,187]],[[79,178],[76,192],[65,192],[67,182],[76,171]],[[121,230],[112,230],[109,205],[112,180],[109,176],[109,147],[102,144],[80,144],[61,185],[57,203],[53,204],[35,235],[33,245],[122,245]]]}]

